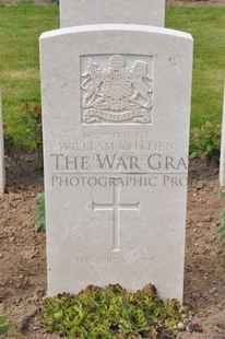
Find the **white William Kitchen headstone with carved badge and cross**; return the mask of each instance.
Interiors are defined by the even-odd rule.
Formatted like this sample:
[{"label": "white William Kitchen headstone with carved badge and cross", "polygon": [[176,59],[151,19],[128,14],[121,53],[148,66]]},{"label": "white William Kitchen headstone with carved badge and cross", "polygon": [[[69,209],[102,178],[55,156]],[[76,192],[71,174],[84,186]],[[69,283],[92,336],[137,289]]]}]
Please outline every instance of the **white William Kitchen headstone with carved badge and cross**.
[{"label": "white William Kitchen headstone with carved badge and cross", "polygon": [[64,28],[40,63],[49,295],[151,282],[182,301],[192,37]]}]

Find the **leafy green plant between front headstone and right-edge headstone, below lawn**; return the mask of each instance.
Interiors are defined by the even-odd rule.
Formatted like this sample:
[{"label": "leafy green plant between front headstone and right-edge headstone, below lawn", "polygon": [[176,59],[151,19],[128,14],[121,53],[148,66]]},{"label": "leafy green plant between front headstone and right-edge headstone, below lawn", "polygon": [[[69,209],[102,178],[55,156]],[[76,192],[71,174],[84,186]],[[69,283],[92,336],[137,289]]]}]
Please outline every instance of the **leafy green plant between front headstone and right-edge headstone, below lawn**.
[{"label": "leafy green plant between front headstone and right-edge headstone, below lawn", "polygon": [[208,157],[218,161],[221,149],[221,126],[205,122],[201,128],[194,128],[190,139],[190,156]]}]

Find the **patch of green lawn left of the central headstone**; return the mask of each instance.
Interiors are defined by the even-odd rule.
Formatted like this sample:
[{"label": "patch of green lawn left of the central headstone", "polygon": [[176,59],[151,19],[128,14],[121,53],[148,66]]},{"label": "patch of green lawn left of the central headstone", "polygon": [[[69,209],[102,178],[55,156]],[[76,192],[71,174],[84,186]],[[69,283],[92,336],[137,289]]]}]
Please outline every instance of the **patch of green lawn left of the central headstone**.
[{"label": "patch of green lawn left of the central headstone", "polygon": [[0,5],[0,86],[4,122],[16,142],[31,145],[20,124],[25,103],[40,104],[38,38],[59,27],[58,5]]}]

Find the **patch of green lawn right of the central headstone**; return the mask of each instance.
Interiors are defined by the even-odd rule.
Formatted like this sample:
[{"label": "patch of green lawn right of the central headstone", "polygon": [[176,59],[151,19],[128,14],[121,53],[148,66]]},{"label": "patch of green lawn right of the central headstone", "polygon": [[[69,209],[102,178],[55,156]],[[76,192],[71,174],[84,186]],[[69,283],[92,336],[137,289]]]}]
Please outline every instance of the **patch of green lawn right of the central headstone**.
[{"label": "patch of green lawn right of the central headstone", "polygon": [[221,124],[225,77],[225,8],[168,8],[166,26],[194,38],[191,127]]}]

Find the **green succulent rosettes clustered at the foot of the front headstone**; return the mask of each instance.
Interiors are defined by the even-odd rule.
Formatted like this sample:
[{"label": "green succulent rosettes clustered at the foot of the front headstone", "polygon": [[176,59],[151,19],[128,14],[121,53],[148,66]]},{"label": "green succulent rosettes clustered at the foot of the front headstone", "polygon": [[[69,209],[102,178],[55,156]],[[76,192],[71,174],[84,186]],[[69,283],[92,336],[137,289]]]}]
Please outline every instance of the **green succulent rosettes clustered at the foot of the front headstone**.
[{"label": "green succulent rosettes clustered at the foot of the front headstone", "polygon": [[185,317],[176,300],[163,302],[151,284],[137,293],[109,284],[105,289],[88,285],[78,295],[47,299],[40,322],[48,332],[71,339],[173,339]]}]

